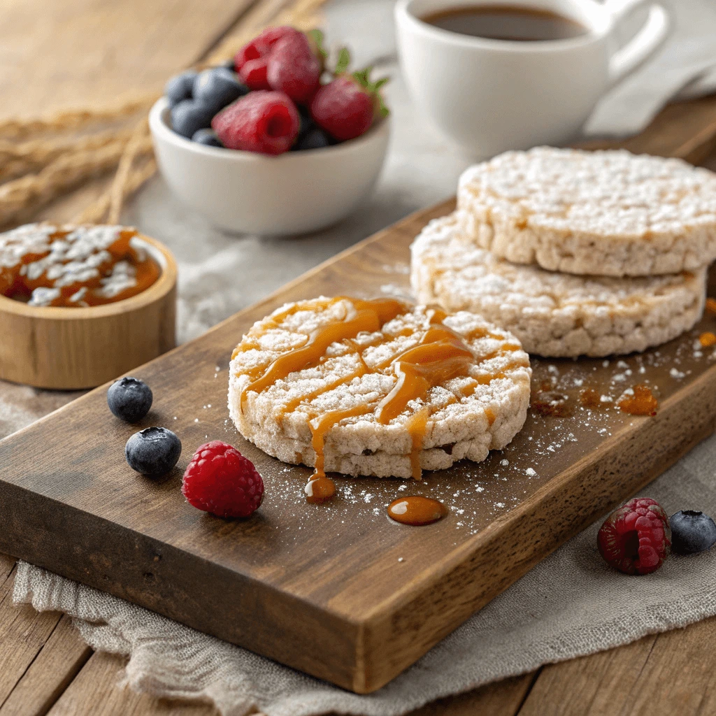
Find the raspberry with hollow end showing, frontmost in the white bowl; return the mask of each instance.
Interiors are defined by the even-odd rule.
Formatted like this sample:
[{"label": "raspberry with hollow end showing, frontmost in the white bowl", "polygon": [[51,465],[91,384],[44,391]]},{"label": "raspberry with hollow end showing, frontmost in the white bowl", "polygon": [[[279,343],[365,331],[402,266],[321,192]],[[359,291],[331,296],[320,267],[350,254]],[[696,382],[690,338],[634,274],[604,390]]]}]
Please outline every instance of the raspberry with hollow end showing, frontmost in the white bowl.
[{"label": "raspberry with hollow end showing, frontmost in the white bowl", "polygon": [[288,151],[299,135],[299,112],[284,92],[249,92],[211,120],[229,149],[262,154]]}]

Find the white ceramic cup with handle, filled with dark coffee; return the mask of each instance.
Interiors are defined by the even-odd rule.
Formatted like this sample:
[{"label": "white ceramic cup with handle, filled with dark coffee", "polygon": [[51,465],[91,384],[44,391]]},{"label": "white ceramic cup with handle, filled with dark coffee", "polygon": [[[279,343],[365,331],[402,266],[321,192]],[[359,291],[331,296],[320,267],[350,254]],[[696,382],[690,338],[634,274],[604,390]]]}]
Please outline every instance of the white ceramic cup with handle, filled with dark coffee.
[{"label": "white ceramic cup with handle, filled with dark coffee", "polygon": [[437,128],[470,155],[560,144],[579,132],[597,100],[637,69],[667,37],[669,17],[652,4],[642,29],[615,49],[616,24],[647,0],[503,0],[576,20],[569,39],[511,41],[440,29],[422,17],[500,0],[397,0],[402,71]]}]

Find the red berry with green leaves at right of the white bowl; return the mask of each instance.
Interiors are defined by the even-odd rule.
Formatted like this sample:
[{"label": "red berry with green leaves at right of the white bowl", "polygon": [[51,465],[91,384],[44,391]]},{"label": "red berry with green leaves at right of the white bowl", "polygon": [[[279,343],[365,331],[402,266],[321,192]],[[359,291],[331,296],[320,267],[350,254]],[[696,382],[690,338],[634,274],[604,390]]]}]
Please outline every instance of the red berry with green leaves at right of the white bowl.
[{"label": "red berry with green leaves at right of the white bowl", "polygon": [[387,78],[371,82],[371,68],[347,74],[350,57],[346,49],[339,54],[336,77],[324,84],[311,101],[311,117],[334,139],[345,141],[367,132],[376,117],[386,117],[380,88]]}]

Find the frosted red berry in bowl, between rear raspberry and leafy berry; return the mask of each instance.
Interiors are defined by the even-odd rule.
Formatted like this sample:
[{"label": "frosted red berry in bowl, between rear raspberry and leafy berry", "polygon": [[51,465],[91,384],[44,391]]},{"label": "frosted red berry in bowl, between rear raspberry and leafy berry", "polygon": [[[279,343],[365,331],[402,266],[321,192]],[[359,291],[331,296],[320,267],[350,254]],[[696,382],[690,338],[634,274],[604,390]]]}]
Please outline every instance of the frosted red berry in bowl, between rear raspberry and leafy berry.
[{"label": "frosted red berry in bowl, between rear raspberry and leafy berry", "polygon": [[271,89],[286,92],[294,102],[311,100],[319,87],[322,71],[323,63],[302,32],[285,34],[271,49],[267,74],[269,85]]}]

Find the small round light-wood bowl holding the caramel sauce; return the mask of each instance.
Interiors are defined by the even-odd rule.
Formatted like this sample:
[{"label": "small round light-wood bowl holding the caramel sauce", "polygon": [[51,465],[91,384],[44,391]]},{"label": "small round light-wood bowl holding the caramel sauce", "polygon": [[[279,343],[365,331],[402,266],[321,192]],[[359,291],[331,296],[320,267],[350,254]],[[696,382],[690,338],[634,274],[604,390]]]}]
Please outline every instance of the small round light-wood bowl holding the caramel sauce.
[{"label": "small round light-wood bowl holding the caramel sauce", "polygon": [[177,266],[136,237],[162,272],[146,291],[90,308],[28,306],[0,296],[0,378],[37,388],[93,388],[173,348]]}]

